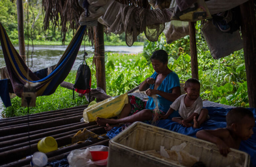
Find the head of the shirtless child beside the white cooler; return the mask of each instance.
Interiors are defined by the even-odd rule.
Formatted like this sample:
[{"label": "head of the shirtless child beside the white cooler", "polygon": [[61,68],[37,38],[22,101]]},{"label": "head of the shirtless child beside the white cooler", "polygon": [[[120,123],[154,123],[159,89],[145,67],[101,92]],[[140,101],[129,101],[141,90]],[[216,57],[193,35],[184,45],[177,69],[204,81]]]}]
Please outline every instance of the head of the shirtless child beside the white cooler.
[{"label": "head of the shirtless child beside the white cooler", "polygon": [[249,139],[253,134],[254,117],[253,113],[243,107],[236,107],[230,110],[226,116],[227,127],[242,140]]}]

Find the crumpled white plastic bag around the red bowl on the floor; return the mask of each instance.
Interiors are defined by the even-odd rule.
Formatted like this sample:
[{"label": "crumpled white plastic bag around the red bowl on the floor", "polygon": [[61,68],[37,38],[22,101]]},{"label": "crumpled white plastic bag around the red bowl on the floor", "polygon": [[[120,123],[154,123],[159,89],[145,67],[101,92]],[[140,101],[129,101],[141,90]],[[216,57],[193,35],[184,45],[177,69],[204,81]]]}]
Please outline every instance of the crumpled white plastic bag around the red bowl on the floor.
[{"label": "crumpled white plastic bag around the red bowl on the floor", "polygon": [[73,150],[68,155],[69,165],[71,167],[97,167],[97,165],[107,165],[107,159],[93,161],[90,151],[108,151],[108,147],[97,145],[84,150]]}]

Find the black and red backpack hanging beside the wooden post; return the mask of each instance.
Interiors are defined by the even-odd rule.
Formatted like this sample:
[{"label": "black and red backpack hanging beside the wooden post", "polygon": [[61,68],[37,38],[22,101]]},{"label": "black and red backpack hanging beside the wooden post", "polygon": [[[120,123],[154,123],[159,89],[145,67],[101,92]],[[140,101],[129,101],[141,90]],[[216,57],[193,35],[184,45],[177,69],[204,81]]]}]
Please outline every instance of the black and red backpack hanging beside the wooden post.
[{"label": "black and red backpack hanging beside the wooden post", "polygon": [[85,61],[86,55],[87,53],[85,52],[83,64],[79,65],[76,73],[76,81],[73,88],[73,99],[75,99],[74,90],[80,94],[90,93],[91,91],[91,70]]}]

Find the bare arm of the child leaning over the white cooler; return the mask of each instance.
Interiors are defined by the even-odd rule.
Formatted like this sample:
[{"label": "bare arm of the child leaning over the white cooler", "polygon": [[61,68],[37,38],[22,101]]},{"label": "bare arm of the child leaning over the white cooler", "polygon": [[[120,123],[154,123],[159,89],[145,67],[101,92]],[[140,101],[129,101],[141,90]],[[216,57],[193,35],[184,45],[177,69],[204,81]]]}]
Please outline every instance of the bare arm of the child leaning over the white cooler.
[{"label": "bare arm of the child leaning over the white cooler", "polygon": [[228,138],[228,136],[228,130],[223,128],[219,128],[216,130],[201,130],[196,133],[197,138],[206,140],[211,143],[215,143],[218,146],[220,153],[225,157],[230,152],[230,148],[223,141],[223,138]]}]

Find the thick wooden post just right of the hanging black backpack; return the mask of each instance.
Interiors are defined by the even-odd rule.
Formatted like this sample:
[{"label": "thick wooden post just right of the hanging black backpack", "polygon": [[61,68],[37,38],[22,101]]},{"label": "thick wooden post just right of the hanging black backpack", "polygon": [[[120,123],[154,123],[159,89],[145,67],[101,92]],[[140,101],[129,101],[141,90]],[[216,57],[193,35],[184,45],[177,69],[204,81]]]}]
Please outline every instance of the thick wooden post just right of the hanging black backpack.
[{"label": "thick wooden post just right of the hanging black backpack", "polygon": [[[104,32],[103,25],[93,28],[94,33],[94,63],[96,66],[97,87],[102,88],[106,92],[106,73],[105,73],[105,48],[104,48]],[[96,99],[97,101],[97,99]]]}]

